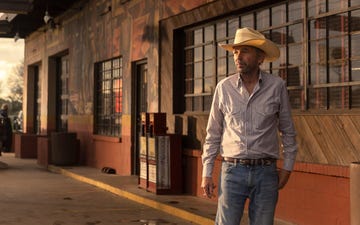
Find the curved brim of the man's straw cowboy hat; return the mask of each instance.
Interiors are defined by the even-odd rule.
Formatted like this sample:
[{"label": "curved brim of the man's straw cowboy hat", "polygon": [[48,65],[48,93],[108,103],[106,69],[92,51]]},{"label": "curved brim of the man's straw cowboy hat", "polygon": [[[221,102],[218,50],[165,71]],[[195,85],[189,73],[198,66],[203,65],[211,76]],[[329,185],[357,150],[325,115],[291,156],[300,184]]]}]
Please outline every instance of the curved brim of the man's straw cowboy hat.
[{"label": "curved brim of the man's straw cowboy hat", "polygon": [[232,52],[236,46],[252,46],[265,52],[265,61],[273,62],[280,57],[280,50],[272,41],[267,39],[248,40],[236,44],[219,44],[220,47]]}]

